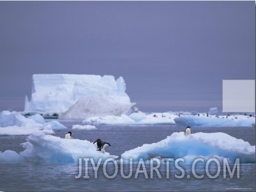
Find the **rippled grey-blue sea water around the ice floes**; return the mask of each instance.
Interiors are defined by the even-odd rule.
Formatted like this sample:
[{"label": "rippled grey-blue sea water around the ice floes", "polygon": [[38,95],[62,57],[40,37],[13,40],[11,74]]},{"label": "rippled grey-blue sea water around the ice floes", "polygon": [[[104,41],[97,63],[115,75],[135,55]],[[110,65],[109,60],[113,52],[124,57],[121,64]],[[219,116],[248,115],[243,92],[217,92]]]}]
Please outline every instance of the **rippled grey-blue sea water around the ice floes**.
[{"label": "rippled grey-blue sea water around the ice floes", "polygon": [[[99,125],[96,130],[72,130],[72,125],[81,124],[81,121],[60,121],[68,127],[67,130],[56,131],[57,137],[64,138],[68,131],[72,131],[75,139],[94,142],[100,138],[109,142],[110,147],[106,151],[110,154],[121,156],[124,151],[134,149],[143,144],[152,144],[162,141],[174,132],[184,132],[184,127],[179,125],[150,125],[150,126],[109,126]],[[192,133],[196,132],[224,132],[250,142],[255,145],[255,127],[193,127]],[[26,141],[23,136],[1,136],[0,151],[13,150],[23,151],[20,143]],[[193,146],[192,146],[193,147]],[[149,170],[149,165],[145,165]],[[192,175],[191,165],[184,165],[186,175],[177,179],[181,172],[170,167],[169,177],[166,177],[165,165],[159,168],[162,179],[154,172],[153,177],[148,179],[140,173],[135,179],[137,165],[132,165],[133,174],[129,179],[124,179],[118,172],[116,177],[109,179],[103,171],[103,165],[98,168],[97,178],[94,178],[94,170],[88,169],[89,179],[79,175],[77,163],[1,163],[0,164],[0,191],[255,191],[255,163],[239,165],[239,178],[234,174],[223,178],[223,169],[215,179],[207,176],[202,179],[187,177]],[[113,174],[114,165],[107,165],[109,175]],[[129,169],[124,165],[124,169]],[[141,170],[141,169],[140,169]],[[198,175],[206,175],[205,168],[197,168]],[[210,167],[211,174],[215,175],[216,167]],[[127,175],[127,174],[126,174]],[[148,172],[149,175],[149,172]]]}]

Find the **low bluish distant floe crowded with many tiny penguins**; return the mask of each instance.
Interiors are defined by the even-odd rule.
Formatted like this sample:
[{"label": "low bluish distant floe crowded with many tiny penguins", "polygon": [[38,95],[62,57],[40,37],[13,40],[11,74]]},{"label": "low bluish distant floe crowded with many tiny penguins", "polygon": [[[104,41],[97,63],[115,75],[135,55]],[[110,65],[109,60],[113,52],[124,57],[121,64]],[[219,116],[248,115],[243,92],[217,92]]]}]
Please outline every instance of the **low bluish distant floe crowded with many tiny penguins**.
[{"label": "low bluish distant floe crowded with many tiny penguins", "polygon": [[206,116],[186,115],[179,116],[174,119],[177,124],[198,126],[198,127],[252,127],[255,125],[255,117],[245,115],[232,115],[232,116]]}]

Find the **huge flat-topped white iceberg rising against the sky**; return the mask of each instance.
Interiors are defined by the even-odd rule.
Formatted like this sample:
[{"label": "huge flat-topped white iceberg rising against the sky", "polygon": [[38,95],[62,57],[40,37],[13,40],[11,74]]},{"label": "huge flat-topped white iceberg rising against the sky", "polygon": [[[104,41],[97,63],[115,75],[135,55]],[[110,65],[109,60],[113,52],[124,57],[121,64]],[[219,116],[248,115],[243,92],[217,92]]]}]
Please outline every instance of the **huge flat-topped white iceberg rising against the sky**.
[{"label": "huge flat-topped white iceberg rising against the sky", "polygon": [[[114,104],[115,106],[119,105],[119,110],[122,113],[132,113],[135,104],[130,102],[130,97],[125,90],[126,85],[122,77],[115,80],[114,76],[34,74],[31,100],[29,101],[26,97],[24,111],[44,113],[67,111],[63,118],[77,118],[78,113],[74,112],[75,109],[79,110],[79,114],[81,112],[101,115],[109,113],[109,111],[100,111],[103,110],[100,104],[110,108],[113,108]],[[79,99],[82,100],[79,101]],[[78,101],[79,103],[72,107]],[[94,109],[95,107],[98,109]],[[82,114],[80,115],[82,116]]]}]

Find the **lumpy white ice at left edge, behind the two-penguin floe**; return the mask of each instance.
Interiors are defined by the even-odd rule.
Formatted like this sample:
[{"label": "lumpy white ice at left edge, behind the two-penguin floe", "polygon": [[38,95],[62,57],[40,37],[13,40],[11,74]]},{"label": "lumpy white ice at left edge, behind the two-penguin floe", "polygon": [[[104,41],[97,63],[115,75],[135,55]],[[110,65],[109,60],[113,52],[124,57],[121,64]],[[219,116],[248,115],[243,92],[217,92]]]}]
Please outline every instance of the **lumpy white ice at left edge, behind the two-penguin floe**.
[{"label": "lumpy white ice at left edge, behind the two-penguin floe", "polygon": [[13,111],[2,111],[0,113],[0,135],[30,135],[33,132],[55,134],[54,130],[66,129],[58,121],[45,122],[43,117],[35,114],[26,118]]}]

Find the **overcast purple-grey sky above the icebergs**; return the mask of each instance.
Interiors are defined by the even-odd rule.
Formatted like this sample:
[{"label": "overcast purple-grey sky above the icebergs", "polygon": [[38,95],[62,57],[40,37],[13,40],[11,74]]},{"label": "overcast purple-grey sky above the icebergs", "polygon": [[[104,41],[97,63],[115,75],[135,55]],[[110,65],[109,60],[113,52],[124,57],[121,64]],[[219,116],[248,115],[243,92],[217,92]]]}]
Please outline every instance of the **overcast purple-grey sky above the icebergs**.
[{"label": "overcast purple-grey sky above the icebergs", "polygon": [[0,1],[0,111],[33,74],[122,76],[140,111],[222,110],[255,79],[255,1]]}]

